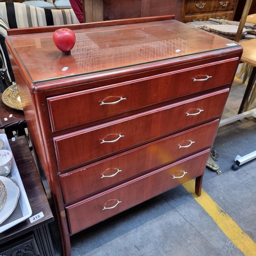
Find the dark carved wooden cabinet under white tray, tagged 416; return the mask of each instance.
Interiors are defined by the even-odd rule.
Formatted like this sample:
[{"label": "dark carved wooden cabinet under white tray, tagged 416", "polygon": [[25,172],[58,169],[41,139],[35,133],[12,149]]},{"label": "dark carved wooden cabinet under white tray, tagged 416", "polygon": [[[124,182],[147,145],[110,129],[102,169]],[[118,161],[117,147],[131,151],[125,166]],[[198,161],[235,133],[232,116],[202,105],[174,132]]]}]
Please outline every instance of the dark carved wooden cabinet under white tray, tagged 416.
[{"label": "dark carved wooden cabinet under white tray, tagged 416", "polygon": [[[54,218],[41,184],[27,140],[24,136],[9,140],[20,177],[22,178],[32,216],[41,211],[44,217],[31,223],[29,219],[0,234],[0,254],[5,256],[41,255],[55,256],[48,224]],[[27,253],[27,254],[26,254]]]}]

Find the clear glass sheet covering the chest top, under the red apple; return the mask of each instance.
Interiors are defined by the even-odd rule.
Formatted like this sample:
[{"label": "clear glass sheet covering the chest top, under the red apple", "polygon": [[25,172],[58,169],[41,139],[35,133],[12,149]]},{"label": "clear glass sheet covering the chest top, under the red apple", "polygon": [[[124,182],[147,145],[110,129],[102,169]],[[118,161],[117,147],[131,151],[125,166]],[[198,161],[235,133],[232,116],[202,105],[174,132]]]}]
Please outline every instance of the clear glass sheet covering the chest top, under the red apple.
[{"label": "clear glass sheet covering the chest top, under the red apple", "polygon": [[53,32],[9,36],[34,83],[133,67],[239,44],[176,20],[74,30],[76,44],[64,55]]}]

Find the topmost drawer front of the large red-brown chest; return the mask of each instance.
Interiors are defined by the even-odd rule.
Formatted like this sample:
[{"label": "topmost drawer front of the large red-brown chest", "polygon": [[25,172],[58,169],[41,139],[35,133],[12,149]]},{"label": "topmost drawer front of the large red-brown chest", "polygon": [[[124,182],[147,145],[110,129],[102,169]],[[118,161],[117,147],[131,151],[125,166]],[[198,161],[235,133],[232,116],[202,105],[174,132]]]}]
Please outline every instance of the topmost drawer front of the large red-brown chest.
[{"label": "topmost drawer front of the large red-brown chest", "polygon": [[[229,71],[236,66],[237,59],[230,59],[182,72],[48,98],[52,131],[231,83],[233,73]],[[194,82],[194,78],[203,79],[207,75],[211,78]]]}]

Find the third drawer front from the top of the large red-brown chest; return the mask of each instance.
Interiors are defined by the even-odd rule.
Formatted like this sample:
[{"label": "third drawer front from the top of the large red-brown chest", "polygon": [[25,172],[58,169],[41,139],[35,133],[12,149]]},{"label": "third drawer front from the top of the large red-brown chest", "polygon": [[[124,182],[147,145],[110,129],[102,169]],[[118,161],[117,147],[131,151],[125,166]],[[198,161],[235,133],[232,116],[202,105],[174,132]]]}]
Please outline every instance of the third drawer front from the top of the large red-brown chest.
[{"label": "third drawer front from the top of the large red-brown chest", "polygon": [[65,203],[70,203],[97,194],[122,181],[208,148],[214,140],[218,124],[219,119],[61,174],[63,199]]}]

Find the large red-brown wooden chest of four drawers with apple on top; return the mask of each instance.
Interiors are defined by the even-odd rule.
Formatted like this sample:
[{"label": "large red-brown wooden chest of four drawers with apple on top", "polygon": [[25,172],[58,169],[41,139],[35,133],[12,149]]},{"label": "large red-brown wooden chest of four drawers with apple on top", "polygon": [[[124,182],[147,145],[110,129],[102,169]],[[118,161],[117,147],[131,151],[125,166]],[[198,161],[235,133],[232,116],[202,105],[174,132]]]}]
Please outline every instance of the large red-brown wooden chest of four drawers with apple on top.
[{"label": "large red-brown wooden chest of four drawers with apple on top", "polygon": [[183,182],[196,178],[200,196],[242,54],[173,16],[69,28],[71,55],[54,46],[54,27],[6,40],[63,255],[72,234]]}]

